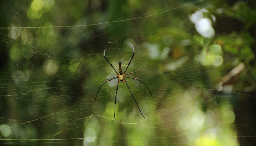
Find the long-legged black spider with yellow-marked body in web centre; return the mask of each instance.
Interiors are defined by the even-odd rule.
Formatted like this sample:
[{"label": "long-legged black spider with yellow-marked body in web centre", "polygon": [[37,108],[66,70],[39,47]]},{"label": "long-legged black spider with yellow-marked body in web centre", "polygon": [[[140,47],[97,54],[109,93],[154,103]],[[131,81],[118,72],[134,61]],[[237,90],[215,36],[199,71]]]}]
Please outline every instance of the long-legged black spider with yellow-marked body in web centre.
[{"label": "long-legged black spider with yellow-marked body in web centre", "polygon": [[[131,45],[131,46],[132,46],[132,45]],[[134,51],[133,46],[132,46],[132,49],[133,49],[133,54],[132,54],[132,56],[131,56],[131,60],[132,60],[132,58],[133,58],[133,56],[134,56],[134,54],[135,54],[135,51]],[[108,60],[108,59],[106,58],[106,56],[105,56],[105,51],[106,51],[106,50],[104,50],[104,52],[103,52],[103,56],[104,56],[104,58],[106,59],[106,61],[109,62],[109,60]],[[130,63],[131,63],[131,60],[129,61],[128,66],[126,67],[125,72],[127,71],[127,68],[129,67],[129,65],[130,65]],[[138,72],[140,69],[137,70],[137,71],[134,71],[134,72],[130,72],[130,73],[125,74],[125,72],[122,71],[121,64],[122,64],[122,63],[119,62],[119,73],[117,73],[117,71],[115,70],[115,68],[114,68],[114,67],[112,66],[112,64],[109,62],[109,65],[115,70],[115,72],[117,73],[117,76],[104,80],[105,82],[104,82],[103,84],[101,84],[100,87],[103,86],[103,85],[104,85],[105,83],[107,83],[108,81],[111,81],[111,80],[116,79],[116,78],[118,79],[118,80],[117,80],[117,87],[116,87],[116,94],[117,94],[117,90],[118,90],[118,83],[121,83],[121,82],[123,82],[123,83],[125,82],[125,83],[126,83],[128,89],[129,89],[129,91],[130,91],[130,93],[131,93],[131,89],[130,89],[130,87],[128,86],[127,81],[126,81],[125,78],[131,78],[131,79],[134,79],[134,80],[138,80],[138,81],[140,81],[141,83],[143,83],[143,84],[147,87],[147,85],[146,85],[143,81],[141,81],[140,79],[126,76],[126,75],[130,75],[130,74],[136,73],[136,72]],[[99,89],[98,89],[98,92],[99,92],[99,90],[100,90],[100,87],[99,87]],[[150,92],[150,90],[149,90],[148,87],[147,87],[147,89],[148,89],[148,91]],[[95,101],[96,101],[98,92],[97,92],[97,94],[96,94]],[[152,96],[152,93],[151,93],[151,92],[150,92],[150,94],[151,94],[151,96]],[[137,105],[137,107],[138,107],[138,109],[139,109],[141,115],[144,117],[144,115],[142,114],[142,112],[141,112],[141,110],[140,110],[140,108],[139,108],[139,106],[138,106],[138,104],[137,104],[137,102],[136,102],[136,99],[134,98],[134,96],[133,96],[132,93],[131,93],[131,96],[132,96],[132,98],[134,99],[134,101],[135,101],[135,103],[136,103],[136,105]],[[152,96],[152,97],[153,97],[153,96]],[[114,111],[114,119],[113,119],[113,120],[115,120],[115,113],[116,113],[116,95],[115,95],[115,111]],[[144,117],[144,118],[145,118],[145,117]]]}]

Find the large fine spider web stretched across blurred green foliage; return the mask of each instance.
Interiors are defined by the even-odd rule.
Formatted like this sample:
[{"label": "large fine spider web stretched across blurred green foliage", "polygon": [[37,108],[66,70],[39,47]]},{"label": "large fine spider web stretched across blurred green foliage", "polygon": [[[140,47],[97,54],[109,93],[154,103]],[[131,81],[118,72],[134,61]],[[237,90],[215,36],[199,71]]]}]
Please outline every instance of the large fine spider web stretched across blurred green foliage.
[{"label": "large fine spider web stretched across blurred green foliage", "polygon": [[[74,25],[45,20],[22,27],[22,14],[10,16],[0,29],[0,144],[252,144],[255,38],[247,23],[253,14],[246,19],[250,12],[243,11],[251,9],[243,2],[163,4],[141,2],[150,7],[146,12],[134,8],[138,12],[110,21],[93,13]],[[212,36],[195,27],[196,12],[211,21]],[[119,61],[125,70],[129,43],[135,55],[126,73],[140,71],[127,76],[144,81],[153,97],[126,78],[146,119],[120,83],[113,121],[117,79],[104,84],[95,101],[102,81],[116,76],[103,51],[116,70]]]}]

